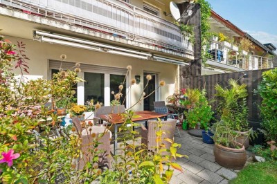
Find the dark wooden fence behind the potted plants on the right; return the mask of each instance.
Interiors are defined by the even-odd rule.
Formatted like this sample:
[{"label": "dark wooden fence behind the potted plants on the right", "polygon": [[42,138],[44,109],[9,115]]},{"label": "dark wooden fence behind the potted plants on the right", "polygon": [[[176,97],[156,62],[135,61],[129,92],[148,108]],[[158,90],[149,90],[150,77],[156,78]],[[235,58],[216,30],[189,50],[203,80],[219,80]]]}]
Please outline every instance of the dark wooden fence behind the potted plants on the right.
[{"label": "dark wooden fence behind the potted plants on the right", "polygon": [[[182,88],[197,88],[206,89],[207,97],[209,100],[214,99],[215,95],[215,84],[220,84],[223,87],[228,86],[228,80],[238,80],[239,84],[247,84],[247,106],[249,108],[249,121],[260,122],[260,111],[258,106],[260,105],[260,95],[254,93],[257,89],[258,84],[262,80],[262,72],[266,70],[257,71],[243,71],[235,73],[222,73],[216,75],[201,75],[201,76],[190,76],[181,77],[180,87]],[[215,107],[215,103],[213,103]]]}]

